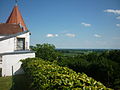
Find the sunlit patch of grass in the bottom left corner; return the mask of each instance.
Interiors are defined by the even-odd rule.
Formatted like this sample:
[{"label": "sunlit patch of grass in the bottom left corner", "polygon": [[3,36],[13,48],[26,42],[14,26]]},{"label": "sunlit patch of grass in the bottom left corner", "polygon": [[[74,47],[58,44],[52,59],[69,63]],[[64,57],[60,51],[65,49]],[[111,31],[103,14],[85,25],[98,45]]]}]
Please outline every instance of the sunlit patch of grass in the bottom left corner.
[{"label": "sunlit patch of grass in the bottom left corner", "polygon": [[0,90],[10,90],[12,86],[12,77],[0,77]]}]

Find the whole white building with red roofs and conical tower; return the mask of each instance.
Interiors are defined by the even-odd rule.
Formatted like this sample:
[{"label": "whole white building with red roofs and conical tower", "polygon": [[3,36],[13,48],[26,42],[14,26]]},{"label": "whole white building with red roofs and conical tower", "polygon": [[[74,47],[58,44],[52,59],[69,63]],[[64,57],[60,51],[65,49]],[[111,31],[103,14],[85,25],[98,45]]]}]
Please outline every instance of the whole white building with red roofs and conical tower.
[{"label": "whole white building with red roofs and conical tower", "polygon": [[35,57],[29,49],[30,32],[15,5],[6,23],[0,23],[0,76],[22,72],[21,59]]}]

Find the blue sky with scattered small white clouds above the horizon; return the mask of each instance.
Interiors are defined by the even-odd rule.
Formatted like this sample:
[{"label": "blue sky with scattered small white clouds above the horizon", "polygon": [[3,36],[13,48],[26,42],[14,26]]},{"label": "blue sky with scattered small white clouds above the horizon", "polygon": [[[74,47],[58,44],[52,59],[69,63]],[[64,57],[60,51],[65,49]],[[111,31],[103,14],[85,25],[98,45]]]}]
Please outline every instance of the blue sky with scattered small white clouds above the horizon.
[{"label": "blue sky with scattered small white clouds above the horizon", "polygon": [[[0,1],[1,23],[14,5],[14,0]],[[120,49],[120,0],[19,0],[18,6],[31,45]]]}]

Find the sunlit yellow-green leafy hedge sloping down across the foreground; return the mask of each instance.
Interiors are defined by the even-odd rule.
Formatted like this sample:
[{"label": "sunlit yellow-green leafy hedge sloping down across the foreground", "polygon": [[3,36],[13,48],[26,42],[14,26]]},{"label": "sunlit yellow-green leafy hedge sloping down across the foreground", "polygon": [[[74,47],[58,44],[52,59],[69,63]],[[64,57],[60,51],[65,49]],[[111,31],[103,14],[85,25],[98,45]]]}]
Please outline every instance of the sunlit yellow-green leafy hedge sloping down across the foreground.
[{"label": "sunlit yellow-green leafy hedge sloping down across the foreground", "polygon": [[86,74],[76,73],[54,62],[39,58],[21,61],[33,90],[110,90]]}]

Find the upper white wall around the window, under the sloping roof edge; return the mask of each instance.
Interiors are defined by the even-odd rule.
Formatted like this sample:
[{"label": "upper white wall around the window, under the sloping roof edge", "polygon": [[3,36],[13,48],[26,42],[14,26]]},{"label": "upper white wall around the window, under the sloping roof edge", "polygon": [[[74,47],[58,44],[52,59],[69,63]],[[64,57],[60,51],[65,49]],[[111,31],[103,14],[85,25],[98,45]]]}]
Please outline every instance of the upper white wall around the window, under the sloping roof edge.
[{"label": "upper white wall around the window, under the sloping roof edge", "polygon": [[17,48],[17,38],[25,38],[25,48],[29,49],[30,36],[29,32],[19,35],[17,37],[12,37],[3,41],[0,41],[0,53],[14,52]]}]

